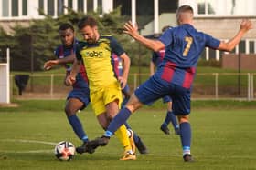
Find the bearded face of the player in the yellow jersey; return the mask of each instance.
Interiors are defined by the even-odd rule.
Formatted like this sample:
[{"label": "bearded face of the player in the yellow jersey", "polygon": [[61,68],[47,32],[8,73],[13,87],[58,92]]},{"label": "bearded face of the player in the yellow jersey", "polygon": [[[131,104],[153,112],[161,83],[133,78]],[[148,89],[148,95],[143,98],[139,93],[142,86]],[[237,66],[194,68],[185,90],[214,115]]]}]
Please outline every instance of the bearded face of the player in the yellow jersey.
[{"label": "bearded face of the player in the yellow jersey", "polygon": [[97,30],[97,26],[84,26],[82,29],[80,29],[80,33],[84,40],[86,40],[88,43],[93,44],[96,43],[99,39],[99,33]]}]

